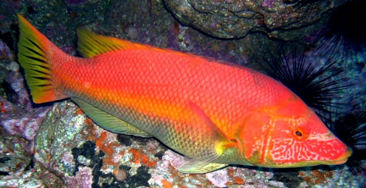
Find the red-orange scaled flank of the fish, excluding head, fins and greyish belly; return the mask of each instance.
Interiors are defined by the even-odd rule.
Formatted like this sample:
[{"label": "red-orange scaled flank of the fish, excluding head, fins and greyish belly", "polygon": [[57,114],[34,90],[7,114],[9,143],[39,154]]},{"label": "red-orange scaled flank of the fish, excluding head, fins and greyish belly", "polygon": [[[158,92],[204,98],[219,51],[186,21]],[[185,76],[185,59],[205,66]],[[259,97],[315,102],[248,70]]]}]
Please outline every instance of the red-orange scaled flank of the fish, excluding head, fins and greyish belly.
[{"label": "red-orange scaled flank of the fish, excluding head, fins and greyish belly", "polygon": [[[295,97],[279,82],[251,69],[170,50],[110,52],[93,59],[56,53],[50,59],[57,62],[50,68],[58,93],[175,121],[191,101],[231,139],[242,128],[244,114]],[[112,114],[130,116],[118,110]]]}]

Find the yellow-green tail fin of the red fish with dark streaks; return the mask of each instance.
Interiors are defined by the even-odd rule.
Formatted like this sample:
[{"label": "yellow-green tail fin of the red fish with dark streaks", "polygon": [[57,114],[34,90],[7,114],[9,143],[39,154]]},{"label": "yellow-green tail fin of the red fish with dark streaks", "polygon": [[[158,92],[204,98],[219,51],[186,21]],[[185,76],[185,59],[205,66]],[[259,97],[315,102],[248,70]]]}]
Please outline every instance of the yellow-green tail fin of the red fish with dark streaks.
[{"label": "yellow-green tail fin of the red fish with dark streaks", "polygon": [[[25,72],[25,79],[34,103],[51,102],[66,98],[57,94],[52,84],[49,53],[55,46],[22,15],[18,14],[18,61]],[[61,53],[61,50],[59,50]],[[59,52],[57,52],[59,53]],[[64,53],[66,55],[66,53]],[[62,55],[62,54],[60,54]]]}]

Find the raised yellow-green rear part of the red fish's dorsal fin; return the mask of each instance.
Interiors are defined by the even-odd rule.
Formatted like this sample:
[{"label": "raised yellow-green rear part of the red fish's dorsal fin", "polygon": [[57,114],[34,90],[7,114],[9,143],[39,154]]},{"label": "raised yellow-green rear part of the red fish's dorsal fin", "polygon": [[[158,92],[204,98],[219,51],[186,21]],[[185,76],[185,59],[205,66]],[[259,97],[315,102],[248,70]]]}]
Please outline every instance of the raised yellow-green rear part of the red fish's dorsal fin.
[{"label": "raised yellow-green rear part of the red fish's dorsal fin", "polygon": [[98,35],[86,29],[77,29],[76,33],[78,35],[77,50],[83,57],[91,58],[101,53],[116,50],[151,48],[149,45]]}]

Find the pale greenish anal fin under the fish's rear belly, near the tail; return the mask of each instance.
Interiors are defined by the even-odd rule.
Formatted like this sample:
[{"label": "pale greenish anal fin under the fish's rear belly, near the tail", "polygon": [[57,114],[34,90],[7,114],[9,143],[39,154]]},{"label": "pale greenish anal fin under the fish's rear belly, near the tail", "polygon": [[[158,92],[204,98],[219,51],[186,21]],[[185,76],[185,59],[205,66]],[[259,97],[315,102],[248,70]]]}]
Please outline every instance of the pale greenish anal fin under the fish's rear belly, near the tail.
[{"label": "pale greenish anal fin under the fish's rear belly, near the tail", "polygon": [[112,114],[104,112],[103,110],[83,101],[80,98],[71,97],[71,100],[76,102],[76,104],[78,104],[85,112],[85,114],[89,116],[95,123],[97,123],[100,127],[107,129],[108,131],[125,135],[152,137],[151,135],[141,131],[126,121],[123,121]]}]

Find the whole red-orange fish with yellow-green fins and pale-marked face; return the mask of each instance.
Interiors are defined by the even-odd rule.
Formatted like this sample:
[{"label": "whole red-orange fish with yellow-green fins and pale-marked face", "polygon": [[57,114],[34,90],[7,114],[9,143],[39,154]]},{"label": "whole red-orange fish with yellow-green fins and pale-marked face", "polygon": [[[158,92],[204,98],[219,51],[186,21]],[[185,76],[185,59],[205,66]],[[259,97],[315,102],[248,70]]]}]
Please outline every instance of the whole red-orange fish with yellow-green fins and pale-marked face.
[{"label": "whole red-orange fish with yellow-green fins and pale-marked face", "polygon": [[155,137],[189,158],[181,173],[340,165],[352,154],[296,94],[253,69],[86,29],[74,57],[18,20],[34,103],[70,98],[108,131]]}]

